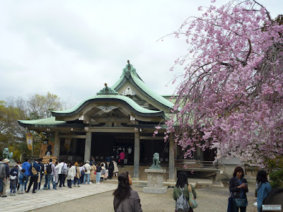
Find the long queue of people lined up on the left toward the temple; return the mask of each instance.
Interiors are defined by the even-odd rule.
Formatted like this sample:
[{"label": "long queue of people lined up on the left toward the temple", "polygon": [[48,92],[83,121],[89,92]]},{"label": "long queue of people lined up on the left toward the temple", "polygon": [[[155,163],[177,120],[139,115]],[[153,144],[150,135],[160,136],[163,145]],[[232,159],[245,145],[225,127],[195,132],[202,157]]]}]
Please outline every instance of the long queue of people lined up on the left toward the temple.
[{"label": "long queue of people lined up on the left toward the temple", "polygon": [[[48,164],[42,163],[42,158],[35,159],[33,162],[26,159],[23,164],[20,161],[14,165],[11,170],[7,158],[0,158],[0,192],[1,197],[6,197],[6,188],[10,181],[10,196],[16,193],[24,194],[30,192],[33,186],[33,193],[42,191],[42,189],[62,189],[65,187],[80,187],[80,184],[100,184],[103,180],[117,177],[118,165],[114,157],[108,157],[106,161],[96,163],[92,158],[86,163],[60,162],[50,159]],[[42,179],[45,178],[45,184],[42,186]]]}]

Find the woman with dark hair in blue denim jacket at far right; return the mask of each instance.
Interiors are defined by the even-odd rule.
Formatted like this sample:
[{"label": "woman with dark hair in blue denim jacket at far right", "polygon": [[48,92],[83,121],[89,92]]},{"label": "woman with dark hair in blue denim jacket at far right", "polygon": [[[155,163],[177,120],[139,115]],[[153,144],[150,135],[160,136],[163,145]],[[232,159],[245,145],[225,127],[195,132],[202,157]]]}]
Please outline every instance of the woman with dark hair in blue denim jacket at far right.
[{"label": "woman with dark hair in blue denim jacket at far right", "polygon": [[267,180],[267,172],[265,170],[258,171],[257,183],[255,184],[255,189],[258,192],[257,203],[258,212],[260,212],[262,201],[271,192],[271,185]]}]

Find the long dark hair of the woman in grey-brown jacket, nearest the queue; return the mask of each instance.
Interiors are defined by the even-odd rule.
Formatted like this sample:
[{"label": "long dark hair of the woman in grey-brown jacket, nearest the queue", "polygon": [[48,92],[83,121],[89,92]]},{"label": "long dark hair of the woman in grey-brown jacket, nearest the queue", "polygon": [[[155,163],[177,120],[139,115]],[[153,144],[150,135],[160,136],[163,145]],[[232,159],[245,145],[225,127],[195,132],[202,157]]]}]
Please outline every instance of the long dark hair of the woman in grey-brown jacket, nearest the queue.
[{"label": "long dark hair of the woman in grey-brown jacket, nearest the queue", "polygon": [[129,186],[129,172],[122,172],[118,176],[118,181],[118,187],[113,192],[113,195],[120,200],[126,199],[131,192],[131,187]]}]

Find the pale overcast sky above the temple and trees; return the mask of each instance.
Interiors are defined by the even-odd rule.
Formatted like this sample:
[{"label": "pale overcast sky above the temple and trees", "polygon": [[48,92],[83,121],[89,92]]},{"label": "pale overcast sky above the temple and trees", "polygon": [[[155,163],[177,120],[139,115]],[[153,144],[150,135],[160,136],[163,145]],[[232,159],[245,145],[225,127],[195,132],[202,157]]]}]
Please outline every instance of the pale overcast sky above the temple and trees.
[{"label": "pale overcast sky above the temple and trees", "polygon": [[[282,0],[259,0],[272,17]],[[224,0],[216,1],[216,5]],[[210,0],[1,1],[0,100],[56,94],[71,106],[117,81],[127,59],[142,80],[161,95],[182,69],[185,40],[168,37]],[[169,83],[169,84],[168,84]],[[168,86],[166,86],[168,84]]]}]

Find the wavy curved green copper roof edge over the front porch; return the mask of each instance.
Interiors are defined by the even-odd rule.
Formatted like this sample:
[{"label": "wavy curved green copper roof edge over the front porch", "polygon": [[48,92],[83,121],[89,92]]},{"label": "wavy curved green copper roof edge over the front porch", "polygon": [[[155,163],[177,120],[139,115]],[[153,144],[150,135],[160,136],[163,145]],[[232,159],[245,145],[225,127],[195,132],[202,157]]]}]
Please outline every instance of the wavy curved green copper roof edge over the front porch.
[{"label": "wavy curved green copper roof edge over the front porch", "polygon": [[128,105],[130,105],[134,110],[136,110],[137,112],[141,113],[141,114],[158,114],[158,113],[162,113],[162,111],[156,111],[156,110],[148,110],[144,107],[141,107],[140,105],[138,105],[136,102],[134,102],[134,100],[128,98],[127,96],[124,95],[96,95],[96,96],[92,96],[90,98],[87,98],[86,100],[83,100],[79,105],[76,105],[76,107],[73,107],[69,110],[62,110],[62,111],[52,111],[52,114],[54,116],[56,116],[56,114],[70,114],[73,112],[79,112],[83,109],[83,107],[85,107],[86,105],[88,105],[88,103],[90,102],[103,102],[104,100],[107,101],[122,101],[122,102],[126,102]]}]

